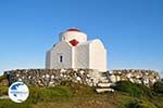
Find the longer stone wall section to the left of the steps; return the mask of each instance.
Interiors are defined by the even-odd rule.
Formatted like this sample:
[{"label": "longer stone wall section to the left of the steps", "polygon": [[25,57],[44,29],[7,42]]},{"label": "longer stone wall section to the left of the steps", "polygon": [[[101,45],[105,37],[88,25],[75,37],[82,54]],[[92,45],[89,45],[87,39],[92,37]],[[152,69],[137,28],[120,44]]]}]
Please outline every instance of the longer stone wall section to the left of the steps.
[{"label": "longer stone wall section to the left of the steps", "polygon": [[99,71],[91,69],[21,69],[4,71],[11,83],[23,81],[36,86],[57,86],[64,81],[96,86],[99,82]]}]

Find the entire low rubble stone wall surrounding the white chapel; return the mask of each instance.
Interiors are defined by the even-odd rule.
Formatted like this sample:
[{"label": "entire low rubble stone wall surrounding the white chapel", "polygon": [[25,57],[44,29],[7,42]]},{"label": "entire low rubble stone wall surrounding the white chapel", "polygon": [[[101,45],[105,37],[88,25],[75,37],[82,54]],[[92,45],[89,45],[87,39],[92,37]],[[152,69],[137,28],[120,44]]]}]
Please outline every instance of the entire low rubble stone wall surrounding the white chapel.
[{"label": "entire low rubble stone wall surrounding the white chapel", "polygon": [[114,84],[117,81],[130,81],[147,86],[160,81],[159,72],[154,70],[108,70],[100,72],[91,69],[17,69],[4,71],[9,83],[23,81],[36,86],[57,86],[64,81],[83,83],[90,86],[102,84]]}]

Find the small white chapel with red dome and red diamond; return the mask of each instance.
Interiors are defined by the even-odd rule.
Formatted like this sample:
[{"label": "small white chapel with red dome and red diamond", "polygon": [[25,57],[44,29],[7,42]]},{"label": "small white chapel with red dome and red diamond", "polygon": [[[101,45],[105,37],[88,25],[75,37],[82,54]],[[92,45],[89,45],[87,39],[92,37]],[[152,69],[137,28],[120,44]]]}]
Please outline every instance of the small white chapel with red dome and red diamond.
[{"label": "small white chapel with red dome and red diamond", "polygon": [[106,50],[99,39],[87,41],[87,35],[76,28],[61,32],[59,38],[46,54],[47,69],[106,70]]}]

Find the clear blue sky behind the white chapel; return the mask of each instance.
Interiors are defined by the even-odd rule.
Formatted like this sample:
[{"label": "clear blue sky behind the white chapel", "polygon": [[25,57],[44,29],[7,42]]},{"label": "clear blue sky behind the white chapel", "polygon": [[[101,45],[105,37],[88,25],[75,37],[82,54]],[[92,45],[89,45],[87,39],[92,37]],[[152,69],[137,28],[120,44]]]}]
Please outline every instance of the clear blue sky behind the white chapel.
[{"label": "clear blue sky behind the white chapel", "polygon": [[162,0],[0,0],[0,72],[45,68],[58,35],[71,27],[100,38],[109,69],[163,70]]}]

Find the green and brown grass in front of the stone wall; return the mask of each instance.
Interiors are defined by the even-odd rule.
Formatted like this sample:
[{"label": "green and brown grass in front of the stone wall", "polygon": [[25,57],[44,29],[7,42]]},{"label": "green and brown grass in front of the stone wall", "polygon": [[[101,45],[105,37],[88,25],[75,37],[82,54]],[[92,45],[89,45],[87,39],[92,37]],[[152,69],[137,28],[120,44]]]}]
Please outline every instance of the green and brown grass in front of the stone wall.
[{"label": "green and brown grass in front of the stone wall", "polygon": [[[55,87],[29,85],[30,95],[26,102],[15,104],[0,99],[0,108],[163,108],[163,94],[152,87],[117,82],[114,89],[114,93],[97,94],[95,87],[72,82]],[[8,86],[0,85],[0,91],[7,95]]]}]

